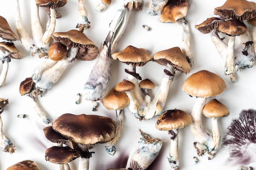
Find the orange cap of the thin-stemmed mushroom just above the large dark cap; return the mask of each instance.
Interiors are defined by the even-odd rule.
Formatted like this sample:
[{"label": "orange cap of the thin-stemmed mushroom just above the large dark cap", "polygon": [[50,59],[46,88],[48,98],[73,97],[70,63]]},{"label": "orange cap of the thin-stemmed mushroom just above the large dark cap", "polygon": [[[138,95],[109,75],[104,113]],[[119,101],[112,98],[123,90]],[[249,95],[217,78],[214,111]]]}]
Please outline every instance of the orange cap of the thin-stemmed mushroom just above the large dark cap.
[{"label": "orange cap of the thin-stemmed mushroom just above the large dark cap", "polygon": [[128,106],[130,100],[125,92],[117,91],[114,87],[102,99],[103,105],[108,110],[121,110]]}]

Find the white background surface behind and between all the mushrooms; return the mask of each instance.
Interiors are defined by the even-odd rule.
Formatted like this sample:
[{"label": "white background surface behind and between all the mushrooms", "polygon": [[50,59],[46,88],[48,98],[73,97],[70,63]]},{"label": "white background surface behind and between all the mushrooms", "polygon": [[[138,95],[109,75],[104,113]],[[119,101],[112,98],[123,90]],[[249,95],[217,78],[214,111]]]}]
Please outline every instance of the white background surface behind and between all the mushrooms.
[{"label": "white background surface behind and between all the mushrooms", "polygon": [[[108,32],[108,24],[112,20],[114,13],[123,4],[122,0],[113,0],[112,4],[102,13],[95,11],[95,6],[100,0],[87,0],[88,18],[91,22],[91,28],[84,31],[88,38],[92,39],[98,47],[104,40]],[[217,99],[226,104],[230,110],[230,116],[220,119],[221,135],[224,135],[224,130],[230,123],[232,118],[238,116],[242,109],[255,108],[255,73],[256,67],[238,72],[238,82],[232,83],[229,76],[224,75],[224,61],[220,58],[217,50],[213,46],[210,35],[203,34],[194,28],[194,25],[200,24],[206,18],[213,16],[213,10],[217,6],[221,6],[224,0],[205,1],[191,0],[190,9],[186,19],[191,28],[192,51],[194,53],[195,65],[188,75],[177,74],[172,87],[169,91],[165,110],[181,109],[188,113],[191,112],[196,98],[191,98],[186,95],[181,87],[185,79],[199,70],[206,69],[220,75],[227,83],[228,89]],[[12,11],[12,3],[10,0],[1,0],[0,15],[6,18],[15,31],[14,18]],[[126,46],[132,45],[139,48],[146,48],[151,54],[160,50],[168,49],[174,46],[180,46],[182,39],[182,29],[175,23],[161,23],[159,16],[150,16],[146,12],[147,2],[144,3],[142,11],[132,11],[130,13],[129,22],[124,32],[123,37],[119,41],[116,52],[123,50]],[[26,30],[31,35],[30,24],[30,6],[28,0],[20,0],[21,15],[26,27]],[[68,0],[66,6],[58,11],[62,14],[62,18],[57,19],[56,32],[66,32],[70,29],[75,29],[78,20],[77,0]],[[45,27],[48,16],[45,11],[40,8],[40,16]],[[151,32],[147,32],[142,25],[152,27]],[[16,31],[15,31],[16,32]],[[223,35],[220,35],[221,37]],[[227,39],[226,39],[227,41]],[[32,109],[28,97],[20,96],[19,85],[26,77],[30,77],[34,68],[42,63],[44,59],[32,58],[30,52],[26,51],[20,44],[20,41],[14,42],[20,52],[24,55],[22,60],[12,60],[9,66],[9,72],[6,82],[0,89],[0,97],[8,98],[9,104],[1,115],[4,122],[4,132],[16,145],[16,152],[12,155],[9,153],[0,152],[0,169],[5,170],[7,167],[24,159],[36,161],[42,170],[55,170],[58,165],[46,162],[44,159],[45,150],[51,147],[51,142],[44,137],[43,128],[46,127]],[[75,104],[76,94],[83,94],[83,86],[86,82],[89,73],[98,60],[93,61],[78,61],[72,62],[61,78],[54,86],[47,90],[47,94],[43,98],[39,98],[39,102],[51,116],[52,120],[56,119],[64,113],[73,114],[96,114],[107,116],[115,119],[115,111],[109,111],[102,104],[97,111],[92,112],[90,101],[83,99],[79,105]],[[125,64],[113,61],[112,78],[108,89],[114,87],[118,82],[126,78],[124,73]],[[0,65],[2,69],[2,65]],[[150,62],[144,67],[139,67],[143,79],[149,78],[155,82],[159,88],[163,75],[163,66],[157,63]],[[154,94],[156,93],[154,90]],[[210,101],[210,100],[208,100]],[[138,145],[140,135],[138,129],[148,132],[152,137],[158,137],[163,140],[164,145],[160,151],[158,158],[154,164],[148,168],[150,170],[166,170],[169,169],[167,160],[169,152],[170,137],[167,132],[158,131],[155,129],[156,117],[150,121],[140,122],[137,120],[128,109],[124,111],[124,131],[119,143],[116,145],[117,153],[113,157],[105,152],[104,145],[96,145],[91,151],[94,151],[93,157],[90,159],[90,170],[105,170],[111,167],[119,167],[124,164],[125,158]],[[27,114],[27,119],[17,118],[18,114]],[[204,118],[204,125],[208,130],[211,130],[211,120]],[[193,156],[196,156],[193,147],[194,137],[189,128],[180,129],[179,133],[179,153],[180,163],[183,170],[215,170],[227,169],[234,170],[238,165],[227,164],[225,161],[228,158],[228,152],[220,149],[216,157],[212,160],[207,160],[207,157],[200,158],[198,164],[194,165]],[[71,164],[73,169],[77,169],[78,161],[73,161]],[[252,164],[253,166],[253,164]],[[254,168],[256,168],[254,164]]]}]

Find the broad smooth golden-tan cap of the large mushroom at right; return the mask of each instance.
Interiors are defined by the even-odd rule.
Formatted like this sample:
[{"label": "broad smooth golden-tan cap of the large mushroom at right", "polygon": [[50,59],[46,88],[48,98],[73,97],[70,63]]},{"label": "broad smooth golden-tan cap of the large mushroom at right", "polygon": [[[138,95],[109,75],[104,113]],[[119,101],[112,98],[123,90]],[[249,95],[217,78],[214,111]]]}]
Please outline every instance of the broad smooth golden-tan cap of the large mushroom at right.
[{"label": "broad smooth golden-tan cap of the large mushroom at right", "polygon": [[217,74],[201,70],[190,75],[182,86],[182,90],[190,96],[213,97],[227,89],[225,81]]}]

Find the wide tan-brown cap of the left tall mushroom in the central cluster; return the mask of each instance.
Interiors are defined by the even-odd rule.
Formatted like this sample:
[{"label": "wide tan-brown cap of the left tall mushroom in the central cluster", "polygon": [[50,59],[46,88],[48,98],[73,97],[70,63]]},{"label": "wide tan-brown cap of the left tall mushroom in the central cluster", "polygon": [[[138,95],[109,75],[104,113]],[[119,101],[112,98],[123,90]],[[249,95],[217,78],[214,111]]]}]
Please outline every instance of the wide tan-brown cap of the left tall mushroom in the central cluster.
[{"label": "wide tan-brown cap of the left tall mushroom in the central cluster", "polygon": [[152,56],[144,48],[136,48],[127,46],[123,51],[112,54],[114,60],[133,66],[144,66],[148,61],[152,60]]}]

